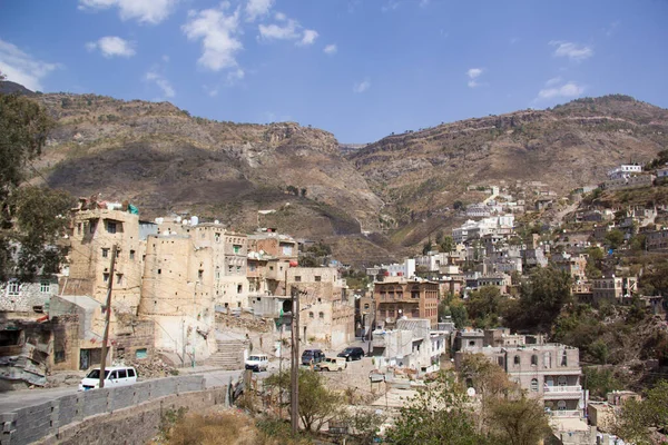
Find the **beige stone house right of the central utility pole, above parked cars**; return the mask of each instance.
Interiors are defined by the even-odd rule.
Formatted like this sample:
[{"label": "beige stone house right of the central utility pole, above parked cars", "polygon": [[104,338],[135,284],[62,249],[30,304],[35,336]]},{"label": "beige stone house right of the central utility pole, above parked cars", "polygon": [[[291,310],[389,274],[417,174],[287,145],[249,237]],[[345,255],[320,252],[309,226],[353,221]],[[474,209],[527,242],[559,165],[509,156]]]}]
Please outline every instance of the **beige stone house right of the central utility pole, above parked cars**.
[{"label": "beige stone house right of the central utility pole, above parked cars", "polygon": [[306,343],[330,348],[346,346],[355,337],[355,303],[348,298],[338,270],[330,267],[291,267],[287,295],[299,298],[299,335]]}]

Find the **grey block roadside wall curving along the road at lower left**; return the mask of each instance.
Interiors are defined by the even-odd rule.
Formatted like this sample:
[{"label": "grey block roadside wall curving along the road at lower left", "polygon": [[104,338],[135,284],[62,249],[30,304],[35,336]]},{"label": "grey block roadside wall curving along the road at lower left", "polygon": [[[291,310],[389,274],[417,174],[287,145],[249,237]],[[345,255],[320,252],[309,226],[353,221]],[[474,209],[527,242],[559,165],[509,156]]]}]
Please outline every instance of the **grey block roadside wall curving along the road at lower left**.
[{"label": "grey block roadside wall curving along the road at lower left", "polygon": [[0,444],[143,444],[158,432],[166,409],[224,403],[226,393],[205,390],[203,376],[86,390],[0,414]]}]

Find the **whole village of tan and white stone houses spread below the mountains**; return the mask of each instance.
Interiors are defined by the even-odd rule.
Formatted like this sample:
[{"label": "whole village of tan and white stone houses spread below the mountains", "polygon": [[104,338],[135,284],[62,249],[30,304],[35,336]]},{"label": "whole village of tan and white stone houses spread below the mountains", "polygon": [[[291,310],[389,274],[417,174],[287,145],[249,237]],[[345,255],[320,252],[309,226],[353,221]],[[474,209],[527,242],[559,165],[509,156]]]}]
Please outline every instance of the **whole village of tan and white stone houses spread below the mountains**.
[{"label": "whole village of tan and white stone houses spread below the mountains", "polygon": [[[356,271],[326,245],[272,228],[244,234],[191,215],[149,221],[128,201],[81,198],[62,239],[61,273],[2,284],[0,384],[47,386],[58,372],[98,366],[109,309],[108,363],[239,369],[250,355],[266,354],[275,368],[289,356],[287,315],[297,295],[301,350],[362,347],[371,366],[350,382],[392,383],[381,405],[387,407],[389,392],[403,394],[430,373],[465,369],[477,354],[540,399],[561,443],[592,443],[611,433],[620,400],[639,396],[587,385],[586,375],[611,372],[584,374],[582,362],[605,356],[641,377],[661,369],[666,350],[639,352],[630,364],[612,345],[580,349],[551,324],[569,306],[609,319],[636,310],[654,324],[652,336],[668,337],[660,286],[649,284],[652,266],[632,261],[668,248],[668,202],[657,199],[667,176],[660,164],[620,165],[567,198],[539,182],[533,197],[521,198],[508,186],[480,186],[488,197],[455,204],[468,219],[451,235],[434,234],[422,255]],[[566,286],[564,295],[522,316],[540,279],[553,279],[543,284],[550,289]]]}]

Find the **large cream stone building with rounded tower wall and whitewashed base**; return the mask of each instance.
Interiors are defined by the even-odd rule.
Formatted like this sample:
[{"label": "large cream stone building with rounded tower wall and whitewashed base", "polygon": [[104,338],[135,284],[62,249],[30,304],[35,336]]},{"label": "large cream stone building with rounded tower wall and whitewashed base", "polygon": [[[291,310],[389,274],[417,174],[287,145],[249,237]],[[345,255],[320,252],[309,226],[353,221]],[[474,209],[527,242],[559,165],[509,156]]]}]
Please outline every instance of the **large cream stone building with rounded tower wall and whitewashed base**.
[{"label": "large cream stone building with rounded tower wall and whitewashed base", "polygon": [[147,239],[139,315],[157,324],[156,347],[205,359],[216,309],[248,306],[246,235],[193,219],[160,231]]}]

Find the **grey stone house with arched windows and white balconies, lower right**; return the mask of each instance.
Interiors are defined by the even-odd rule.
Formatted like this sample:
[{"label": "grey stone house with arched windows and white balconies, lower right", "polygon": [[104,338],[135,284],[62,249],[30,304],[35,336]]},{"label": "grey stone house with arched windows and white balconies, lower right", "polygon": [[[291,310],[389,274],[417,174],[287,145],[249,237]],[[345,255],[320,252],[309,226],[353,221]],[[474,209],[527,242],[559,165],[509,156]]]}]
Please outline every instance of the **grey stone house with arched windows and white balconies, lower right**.
[{"label": "grey stone house with arched windows and white balconies, lower right", "polygon": [[587,405],[581,386],[578,348],[560,344],[518,346],[463,346],[454,357],[461,367],[465,354],[482,354],[498,364],[509,378],[540,398],[552,416],[582,417]]}]

